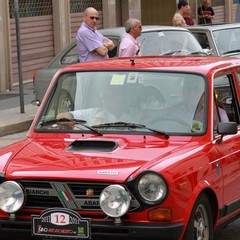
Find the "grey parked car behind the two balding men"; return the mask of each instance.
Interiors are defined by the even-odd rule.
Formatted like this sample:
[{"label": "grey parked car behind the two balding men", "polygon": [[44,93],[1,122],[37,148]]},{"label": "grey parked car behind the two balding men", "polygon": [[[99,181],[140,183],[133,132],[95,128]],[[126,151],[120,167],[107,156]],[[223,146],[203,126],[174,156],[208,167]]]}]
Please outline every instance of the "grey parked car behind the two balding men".
[{"label": "grey parked car behind the two balding men", "polygon": [[[100,32],[110,38],[115,48],[109,52],[109,57],[118,56],[121,39],[125,28],[101,29]],[[141,43],[141,55],[196,55],[204,54],[202,47],[189,30],[171,26],[143,26],[142,35],[137,39]],[[51,62],[36,72],[34,82],[36,105],[42,98],[54,74],[64,66],[78,63],[75,40],[66,46]]]}]

